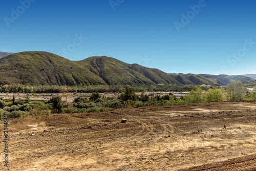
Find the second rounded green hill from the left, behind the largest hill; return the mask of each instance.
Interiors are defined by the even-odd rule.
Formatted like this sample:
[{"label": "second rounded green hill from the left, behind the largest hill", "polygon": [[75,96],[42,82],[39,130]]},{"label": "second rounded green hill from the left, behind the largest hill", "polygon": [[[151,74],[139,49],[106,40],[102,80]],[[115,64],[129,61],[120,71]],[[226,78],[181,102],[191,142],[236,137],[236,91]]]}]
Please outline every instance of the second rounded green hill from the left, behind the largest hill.
[{"label": "second rounded green hill from the left, behind the largest hill", "polygon": [[107,84],[178,84],[177,80],[169,77],[165,72],[150,69],[138,64],[128,64],[120,60],[94,56],[79,61],[83,67],[88,67],[92,72],[99,75]]}]

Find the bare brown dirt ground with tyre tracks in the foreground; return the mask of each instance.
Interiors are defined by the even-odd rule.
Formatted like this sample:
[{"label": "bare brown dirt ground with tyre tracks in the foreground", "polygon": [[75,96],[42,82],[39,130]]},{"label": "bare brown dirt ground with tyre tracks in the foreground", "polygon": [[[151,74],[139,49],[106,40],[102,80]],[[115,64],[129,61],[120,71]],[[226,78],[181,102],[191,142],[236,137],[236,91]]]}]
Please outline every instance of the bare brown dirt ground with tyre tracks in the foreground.
[{"label": "bare brown dirt ground with tyre tracks in the foreground", "polygon": [[9,170],[256,170],[256,102],[20,117],[9,125]]}]

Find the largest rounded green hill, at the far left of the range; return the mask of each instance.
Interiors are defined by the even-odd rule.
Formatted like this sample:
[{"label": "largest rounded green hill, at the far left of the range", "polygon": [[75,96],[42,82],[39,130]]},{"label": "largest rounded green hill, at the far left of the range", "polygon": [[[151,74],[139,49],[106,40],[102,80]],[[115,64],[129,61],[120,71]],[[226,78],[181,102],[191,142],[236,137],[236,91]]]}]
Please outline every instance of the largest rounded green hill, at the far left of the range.
[{"label": "largest rounded green hill, at the far left of the range", "polygon": [[0,84],[75,86],[105,84],[90,70],[48,52],[20,52],[0,59]]}]

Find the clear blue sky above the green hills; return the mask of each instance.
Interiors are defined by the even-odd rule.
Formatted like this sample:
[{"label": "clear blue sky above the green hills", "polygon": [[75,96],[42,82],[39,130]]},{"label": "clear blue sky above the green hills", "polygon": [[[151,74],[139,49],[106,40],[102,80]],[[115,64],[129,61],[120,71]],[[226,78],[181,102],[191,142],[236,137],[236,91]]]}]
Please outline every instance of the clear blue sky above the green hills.
[{"label": "clear blue sky above the green hills", "polygon": [[253,0],[2,1],[0,51],[109,56],[167,73],[256,73],[255,7]]}]

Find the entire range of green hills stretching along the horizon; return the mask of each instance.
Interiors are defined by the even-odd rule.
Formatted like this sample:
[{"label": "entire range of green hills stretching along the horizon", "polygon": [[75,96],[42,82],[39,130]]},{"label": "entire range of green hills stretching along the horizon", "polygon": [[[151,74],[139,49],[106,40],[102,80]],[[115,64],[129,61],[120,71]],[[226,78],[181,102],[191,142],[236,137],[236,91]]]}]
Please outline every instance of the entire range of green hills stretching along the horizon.
[{"label": "entire range of green hills stretching along the horizon", "polygon": [[41,51],[20,52],[0,58],[0,84],[26,85],[177,85],[225,86],[232,80],[253,81],[245,76],[168,74],[136,63],[128,64],[107,56],[71,61]]}]

